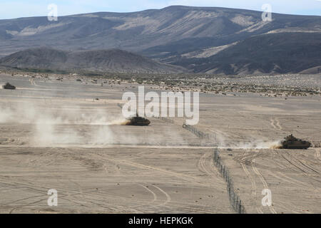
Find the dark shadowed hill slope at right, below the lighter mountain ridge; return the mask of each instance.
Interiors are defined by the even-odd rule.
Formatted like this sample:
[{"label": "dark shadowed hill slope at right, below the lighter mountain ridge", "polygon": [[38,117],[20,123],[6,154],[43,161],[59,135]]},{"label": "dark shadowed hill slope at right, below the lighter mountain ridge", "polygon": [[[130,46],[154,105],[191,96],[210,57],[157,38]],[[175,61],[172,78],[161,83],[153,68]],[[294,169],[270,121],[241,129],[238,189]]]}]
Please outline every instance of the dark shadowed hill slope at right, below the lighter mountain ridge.
[{"label": "dark shadowed hill slope at right, below the lighter mountain ridge", "polygon": [[252,36],[213,56],[197,57],[179,58],[173,64],[195,73],[321,73],[321,33]]}]

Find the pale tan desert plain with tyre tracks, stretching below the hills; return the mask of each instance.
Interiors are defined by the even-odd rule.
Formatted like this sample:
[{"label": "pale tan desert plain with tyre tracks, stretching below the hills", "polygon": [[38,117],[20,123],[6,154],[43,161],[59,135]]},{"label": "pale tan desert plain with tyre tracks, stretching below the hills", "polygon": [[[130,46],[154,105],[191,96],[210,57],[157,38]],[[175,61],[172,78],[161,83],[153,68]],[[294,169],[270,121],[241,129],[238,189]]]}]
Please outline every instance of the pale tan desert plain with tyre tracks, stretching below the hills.
[{"label": "pale tan desert plain with tyre tracks, stretching below the hills", "polygon": [[[284,90],[297,76],[280,77],[273,91],[282,86],[281,95],[200,93],[195,128],[209,135],[202,139],[182,128],[183,118],[123,125],[118,103],[137,83],[1,73],[0,84],[16,90],[0,89],[0,213],[235,213],[213,162],[216,147],[247,213],[321,213],[320,76],[307,77],[304,88],[315,93],[305,95]],[[275,149],[291,133],[312,147]],[[47,204],[51,189],[56,207]],[[270,207],[261,204],[265,189]]]}]

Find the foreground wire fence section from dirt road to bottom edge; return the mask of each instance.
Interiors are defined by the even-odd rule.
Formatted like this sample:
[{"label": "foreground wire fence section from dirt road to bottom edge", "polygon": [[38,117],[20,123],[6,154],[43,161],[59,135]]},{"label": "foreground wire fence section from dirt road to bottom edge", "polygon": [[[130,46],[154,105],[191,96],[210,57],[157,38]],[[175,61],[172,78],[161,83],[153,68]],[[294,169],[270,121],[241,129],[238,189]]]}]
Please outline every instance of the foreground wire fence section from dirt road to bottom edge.
[{"label": "foreground wire fence section from dirt road to bottom edge", "polygon": [[218,148],[214,150],[214,165],[218,167],[218,171],[223,176],[225,182],[228,184],[228,196],[230,198],[230,204],[232,205],[235,212],[238,214],[246,214],[245,207],[242,204],[242,200],[238,197],[238,194],[234,190],[233,180],[230,176],[230,172],[228,171],[228,167],[223,165],[223,161],[220,157],[220,153]]}]

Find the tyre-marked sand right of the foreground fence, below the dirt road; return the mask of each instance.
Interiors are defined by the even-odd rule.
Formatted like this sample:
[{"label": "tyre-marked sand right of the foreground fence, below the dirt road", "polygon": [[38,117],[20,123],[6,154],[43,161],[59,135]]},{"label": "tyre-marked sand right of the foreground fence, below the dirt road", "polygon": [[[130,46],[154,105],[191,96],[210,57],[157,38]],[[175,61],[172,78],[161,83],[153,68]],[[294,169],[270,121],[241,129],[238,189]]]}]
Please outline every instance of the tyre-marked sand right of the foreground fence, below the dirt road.
[{"label": "tyre-marked sand right of the foreground fence, below the dirt road", "polygon": [[[320,149],[221,151],[248,213],[321,213]],[[272,193],[263,207],[262,191]]]}]

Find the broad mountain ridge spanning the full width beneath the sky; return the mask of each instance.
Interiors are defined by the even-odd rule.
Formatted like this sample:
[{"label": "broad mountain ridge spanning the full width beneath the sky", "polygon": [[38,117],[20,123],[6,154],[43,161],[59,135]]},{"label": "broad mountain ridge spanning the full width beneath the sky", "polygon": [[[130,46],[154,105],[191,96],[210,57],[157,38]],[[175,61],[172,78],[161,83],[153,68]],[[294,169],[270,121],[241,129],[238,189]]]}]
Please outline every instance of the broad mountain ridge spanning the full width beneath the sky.
[{"label": "broad mountain ridge spanning the full width beneath the sky", "polygon": [[[307,60],[298,65],[286,60],[291,56],[289,48],[311,51],[313,46],[320,51],[320,43],[313,43],[312,38],[321,33],[321,16],[272,14],[272,21],[262,21],[261,15],[244,9],[169,6],[133,13],[60,16],[58,21],[48,21],[46,16],[0,20],[0,57],[41,46],[73,52],[116,48],[193,72],[315,72],[320,57],[312,58],[313,53],[306,53]],[[303,36],[307,42],[300,38]],[[275,37],[281,41],[269,46],[269,39]],[[298,39],[296,46],[291,46],[293,37]],[[252,41],[256,49],[247,53]],[[266,65],[258,63],[262,58],[255,54],[262,48],[265,60],[268,57]]]}]

